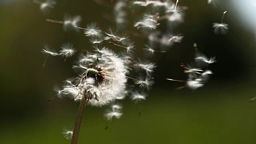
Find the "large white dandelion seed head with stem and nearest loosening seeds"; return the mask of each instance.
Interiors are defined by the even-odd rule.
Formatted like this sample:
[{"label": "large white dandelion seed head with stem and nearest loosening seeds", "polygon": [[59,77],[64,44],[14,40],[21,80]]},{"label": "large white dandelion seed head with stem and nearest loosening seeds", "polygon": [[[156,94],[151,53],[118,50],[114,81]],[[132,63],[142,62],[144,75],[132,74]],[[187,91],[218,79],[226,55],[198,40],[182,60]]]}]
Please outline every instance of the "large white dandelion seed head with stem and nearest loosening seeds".
[{"label": "large white dandelion seed head with stem and nearest loosening seeds", "polygon": [[[78,56],[78,59],[72,66],[78,72],[78,76],[66,79],[62,88],[54,88],[57,97],[67,97],[75,102],[80,102],[72,133],[72,144],[77,142],[82,114],[86,105],[102,107],[116,100],[124,99],[130,94],[131,92],[127,90],[128,87],[134,87],[134,84],[127,84],[127,79],[130,78],[127,76],[130,68],[145,72],[146,76],[142,76],[140,73],[141,76],[136,77],[137,79],[132,79],[141,88],[151,89],[154,84],[154,78],[152,78],[151,73],[156,67],[152,62],[142,63],[132,59],[129,53],[134,49],[134,43],[125,34],[118,36],[116,32],[110,29],[104,33],[106,36],[102,37],[102,39],[97,39],[103,36],[103,34],[100,34],[102,31],[97,24],[88,25],[87,30],[84,30],[84,32],[86,36],[90,37],[91,42],[96,44],[93,46],[94,52],[84,50],[84,53]],[[110,44],[125,48],[126,56],[120,56],[106,46],[102,46],[101,42],[105,40]],[[114,43],[109,40],[117,42]],[[66,43],[61,46],[58,55],[64,56],[66,60],[67,57],[73,56],[76,51],[72,44]],[[142,66],[142,64],[144,65]],[[112,105],[111,109],[108,109],[104,114],[104,117],[107,120],[120,118],[123,115],[121,108],[122,106],[118,104]]]}]

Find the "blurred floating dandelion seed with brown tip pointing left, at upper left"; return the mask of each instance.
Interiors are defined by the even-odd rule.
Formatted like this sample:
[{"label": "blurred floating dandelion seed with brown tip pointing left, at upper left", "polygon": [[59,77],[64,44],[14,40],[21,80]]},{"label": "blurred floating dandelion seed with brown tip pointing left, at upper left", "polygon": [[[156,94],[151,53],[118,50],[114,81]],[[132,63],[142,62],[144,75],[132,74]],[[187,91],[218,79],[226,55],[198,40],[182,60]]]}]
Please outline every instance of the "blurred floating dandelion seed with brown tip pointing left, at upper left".
[{"label": "blurred floating dandelion seed with brown tip pointing left, at upper left", "polygon": [[76,30],[78,32],[79,30],[78,24],[81,22],[81,20],[82,20],[81,16],[70,17],[69,15],[66,14],[64,16],[64,21],[46,19],[46,22],[63,24],[64,31]]}]

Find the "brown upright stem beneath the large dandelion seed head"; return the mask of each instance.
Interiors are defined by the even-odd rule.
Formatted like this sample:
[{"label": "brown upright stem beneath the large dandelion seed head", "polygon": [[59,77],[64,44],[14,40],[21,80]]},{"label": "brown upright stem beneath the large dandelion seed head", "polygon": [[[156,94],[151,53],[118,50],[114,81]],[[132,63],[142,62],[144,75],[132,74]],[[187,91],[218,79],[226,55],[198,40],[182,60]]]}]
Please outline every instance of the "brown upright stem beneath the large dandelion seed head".
[{"label": "brown upright stem beneath the large dandelion seed head", "polygon": [[76,123],[75,123],[75,126],[74,126],[74,131],[73,131],[71,144],[76,144],[77,143],[78,134],[79,134],[79,130],[80,130],[82,116],[83,116],[85,106],[86,106],[86,98],[85,98],[85,95],[82,95],[82,99],[80,100],[80,105],[79,105],[78,112],[77,112]]}]

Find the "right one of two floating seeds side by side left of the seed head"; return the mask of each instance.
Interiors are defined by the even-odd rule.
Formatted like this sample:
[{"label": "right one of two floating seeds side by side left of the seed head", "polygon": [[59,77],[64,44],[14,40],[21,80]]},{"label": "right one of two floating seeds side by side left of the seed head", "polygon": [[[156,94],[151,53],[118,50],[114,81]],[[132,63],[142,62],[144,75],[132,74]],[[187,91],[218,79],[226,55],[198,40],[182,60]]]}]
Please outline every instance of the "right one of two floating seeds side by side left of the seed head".
[{"label": "right one of two floating seeds side by side left of the seed head", "polygon": [[61,46],[60,55],[64,56],[64,62],[66,62],[66,58],[73,56],[76,52],[76,48],[74,48],[73,44],[66,43]]}]

